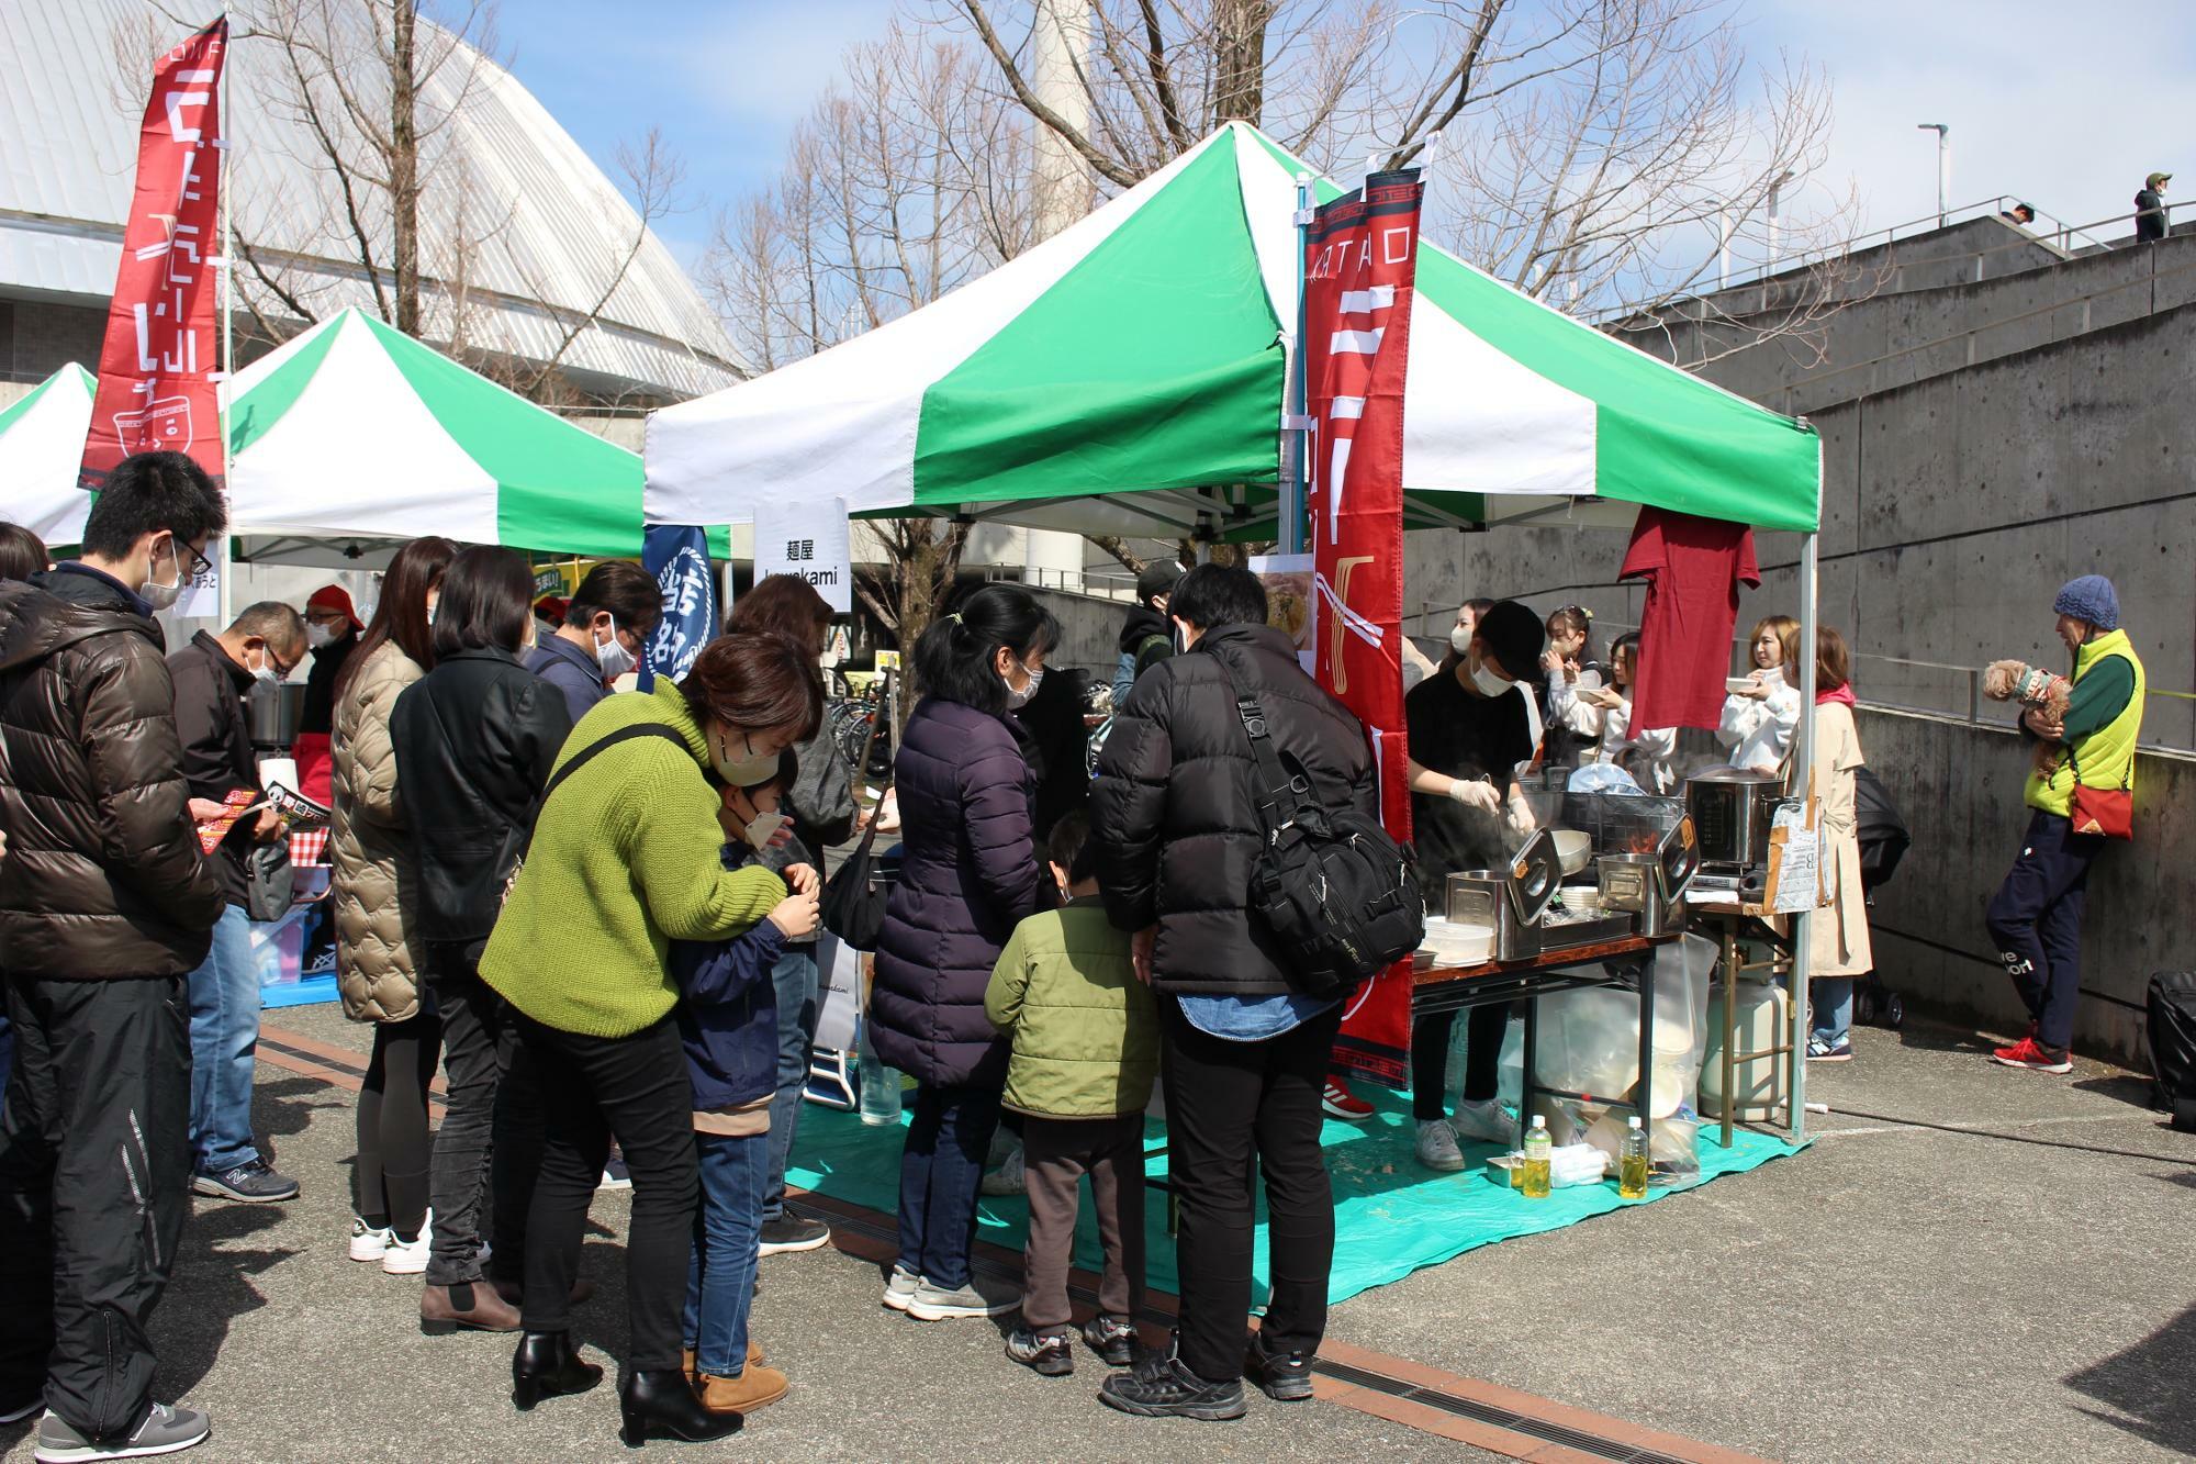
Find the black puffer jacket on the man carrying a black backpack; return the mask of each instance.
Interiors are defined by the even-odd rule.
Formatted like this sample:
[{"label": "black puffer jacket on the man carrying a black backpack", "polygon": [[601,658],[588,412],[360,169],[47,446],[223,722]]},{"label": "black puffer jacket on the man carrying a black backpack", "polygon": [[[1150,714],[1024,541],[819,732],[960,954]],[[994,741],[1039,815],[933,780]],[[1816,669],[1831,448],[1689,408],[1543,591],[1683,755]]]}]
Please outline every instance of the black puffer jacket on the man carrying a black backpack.
[{"label": "black puffer jacket on the man carrying a black backpack", "polygon": [[1379,818],[1357,719],[1304,675],[1282,631],[1221,624],[1186,655],[1153,666],[1113,712],[1091,785],[1098,884],[1116,925],[1159,928],[1157,991],[1280,996],[1293,989],[1287,952],[1245,908],[1265,824],[1221,657],[1243,695],[1258,699],[1278,752],[1304,765],[1313,796]]}]

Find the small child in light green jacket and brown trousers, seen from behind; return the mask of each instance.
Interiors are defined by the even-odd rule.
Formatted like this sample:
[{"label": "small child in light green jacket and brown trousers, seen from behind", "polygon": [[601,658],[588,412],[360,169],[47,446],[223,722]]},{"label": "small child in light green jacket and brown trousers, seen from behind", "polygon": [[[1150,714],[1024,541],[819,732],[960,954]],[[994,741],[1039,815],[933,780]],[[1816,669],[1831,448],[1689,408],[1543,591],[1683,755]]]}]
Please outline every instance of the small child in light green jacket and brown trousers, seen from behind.
[{"label": "small child in light green jacket and brown trousers, seen from behind", "polygon": [[1006,1108],[1021,1114],[1030,1180],[1021,1321],[1006,1354],[1047,1378],[1076,1369],[1067,1266],[1085,1174],[1105,1282],[1083,1341],[1127,1367],[1144,1304],[1144,1106],[1159,1075],[1159,1016],[1129,934],[1105,917],[1089,831],[1083,813],[1052,827],[1045,855],[1065,903],[1015,928],[984,994],[993,1024],[1015,1038]]}]

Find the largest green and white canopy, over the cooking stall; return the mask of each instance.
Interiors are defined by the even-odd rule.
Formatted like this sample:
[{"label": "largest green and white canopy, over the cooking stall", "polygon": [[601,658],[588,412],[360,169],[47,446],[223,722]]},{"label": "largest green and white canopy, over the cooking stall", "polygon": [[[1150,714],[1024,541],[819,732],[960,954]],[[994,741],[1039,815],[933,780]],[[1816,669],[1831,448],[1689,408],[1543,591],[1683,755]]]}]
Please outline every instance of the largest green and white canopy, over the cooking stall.
[{"label": "largest green and white canopy, over the cooking stall", "polygon": [[[1296,171],[1228,123],[944,299],[648,422],[648,519],[764,501],[1173,534],[1271,525]],[[1340,189],[1320,180],[1322,200]],[[1412,525],[1654,503],[1816,528],[1818,440],[1432,244],[1403,404]],[[1614,512],[1612,512],[1614,510]]]}]

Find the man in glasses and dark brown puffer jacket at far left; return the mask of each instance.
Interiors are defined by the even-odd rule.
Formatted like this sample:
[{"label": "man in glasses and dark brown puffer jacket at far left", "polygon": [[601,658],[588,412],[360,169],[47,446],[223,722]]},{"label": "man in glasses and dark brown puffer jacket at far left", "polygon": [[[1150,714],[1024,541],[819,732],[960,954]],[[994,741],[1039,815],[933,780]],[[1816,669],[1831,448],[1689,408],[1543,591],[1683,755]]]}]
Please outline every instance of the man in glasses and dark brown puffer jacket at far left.
[{"label": "man in glasses and dark brown puffer jacket at far left", "polygon": [[108,475],[81,561],[0,585],[0,969],[18,1033],[0,1420],[42,1402],[40,1455],[206,1435],[204,1413],[152,1400],[145,1332],[189,1207],[184,976],[222,914],[152,615],[224,525],[198,464],[141,453]]}]

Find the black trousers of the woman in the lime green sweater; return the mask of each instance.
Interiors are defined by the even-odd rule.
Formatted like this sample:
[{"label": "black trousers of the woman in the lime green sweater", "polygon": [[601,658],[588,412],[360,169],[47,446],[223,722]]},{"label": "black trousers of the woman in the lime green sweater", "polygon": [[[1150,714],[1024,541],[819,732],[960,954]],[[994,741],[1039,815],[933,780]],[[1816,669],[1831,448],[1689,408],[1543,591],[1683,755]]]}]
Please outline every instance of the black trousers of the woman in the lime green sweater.
[{"label": "black trousers of the woman in the lime green sweater", "polygon": [[[547,1145],[527,1222],[529,1332],[571,1328],[586,1207],[617,1139],[632,1174],[626,1231],[626,1372],[679,1367],[687,1251],[701,1163],[694,1156],[694,1082],[679,1024],[663,1018],[630,1038],[584,1038],[529,1018],[518,1027],[540,1073]],[[441,1218],[435,1220],[441,1224]]]}]

